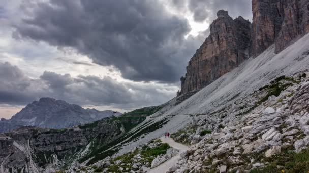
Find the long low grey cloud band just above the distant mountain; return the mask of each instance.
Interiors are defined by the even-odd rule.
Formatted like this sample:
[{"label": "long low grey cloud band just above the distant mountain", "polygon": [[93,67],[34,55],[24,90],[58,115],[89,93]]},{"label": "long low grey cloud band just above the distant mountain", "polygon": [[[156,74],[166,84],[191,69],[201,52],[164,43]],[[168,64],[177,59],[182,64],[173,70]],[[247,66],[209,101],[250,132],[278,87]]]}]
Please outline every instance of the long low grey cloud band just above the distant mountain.
[{"label": "long low grey cloud band just above the distant mountain", "polygon": [[113,105],[120,109],[132,109],[162,104],[175,94],[175,88],[118,82],[111,77],[72,77],[70,74],[45,71],[39,79],[30,79],[8,62],[0,63],[0,77],[0,103],[12,105],[24,105],[41,97],[52,97],[79,105]]}]

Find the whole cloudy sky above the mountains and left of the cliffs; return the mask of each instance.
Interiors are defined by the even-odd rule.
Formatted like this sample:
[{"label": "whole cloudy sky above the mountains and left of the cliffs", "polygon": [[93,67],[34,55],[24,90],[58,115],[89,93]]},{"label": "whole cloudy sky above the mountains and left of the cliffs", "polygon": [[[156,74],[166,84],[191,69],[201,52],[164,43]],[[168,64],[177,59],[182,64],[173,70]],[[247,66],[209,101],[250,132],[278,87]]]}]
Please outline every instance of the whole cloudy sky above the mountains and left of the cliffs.
[{"label": "whole cloudy sky above the mountains and left of the cliffs", "polygon": [[0,2],[0,118],[41,97],[127,112],[176,96],[180,77],[224,9],[249,0]]}]

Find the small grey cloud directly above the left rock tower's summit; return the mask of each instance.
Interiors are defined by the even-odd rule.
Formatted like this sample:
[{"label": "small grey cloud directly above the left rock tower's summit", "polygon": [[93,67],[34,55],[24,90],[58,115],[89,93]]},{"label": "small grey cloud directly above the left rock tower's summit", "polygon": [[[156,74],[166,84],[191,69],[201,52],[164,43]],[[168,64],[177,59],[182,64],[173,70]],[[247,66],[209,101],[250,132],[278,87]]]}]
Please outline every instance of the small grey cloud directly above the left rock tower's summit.
[{"label": "small grey cloud directly above the left rock tower's summit", "polygon": [[252,20],[251,1],[249,0],[182,0],[172,2],[179,7],[179,3],[187,1],[188,9],[193,13],[194,20],[202,22],[204,20],[212,21],[217,18],[218,10],[224,9],[229,12],[233,18],[242,16],[245,19]]}]

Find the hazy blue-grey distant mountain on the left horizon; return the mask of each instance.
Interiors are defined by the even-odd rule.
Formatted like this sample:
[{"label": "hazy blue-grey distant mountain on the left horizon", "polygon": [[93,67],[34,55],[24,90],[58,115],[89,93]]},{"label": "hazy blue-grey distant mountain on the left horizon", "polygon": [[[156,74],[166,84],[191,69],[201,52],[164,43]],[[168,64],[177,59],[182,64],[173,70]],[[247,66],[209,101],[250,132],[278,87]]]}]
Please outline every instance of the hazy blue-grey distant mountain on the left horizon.
[{"label": "hazy blue-grey distant mountain on the left horizon", "polygon": [[[12,131],[22,126],[67,128],[113,115],[114,111],[112,110],[83,109],[79,105],[69,104],[63,100],[41,98],[39,101],[28,104],[11,119],[2,118],[0,120],[0,133]],[[116,112],[115,115],[121,115],[121,113]]]}]

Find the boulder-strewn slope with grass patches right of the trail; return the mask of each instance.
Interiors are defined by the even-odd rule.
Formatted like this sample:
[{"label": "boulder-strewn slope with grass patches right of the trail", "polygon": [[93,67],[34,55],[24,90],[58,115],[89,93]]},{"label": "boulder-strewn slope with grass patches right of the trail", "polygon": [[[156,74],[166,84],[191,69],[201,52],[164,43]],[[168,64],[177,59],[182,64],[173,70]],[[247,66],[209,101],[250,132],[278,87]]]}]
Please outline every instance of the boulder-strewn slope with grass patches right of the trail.
[{"label": "boulder-strewn slope with grass patches right of the trail", "polygon": [[308,92],[305,73],[282,76],[246,100],[198,116],[174,136],[196,149],[180,154],[169,172],[307,172]]}]

